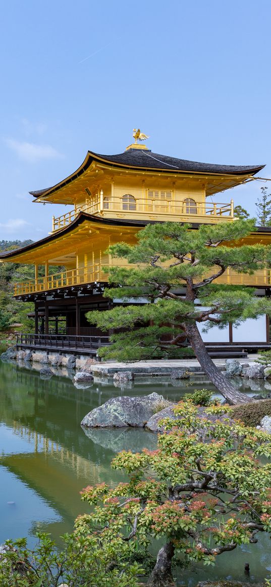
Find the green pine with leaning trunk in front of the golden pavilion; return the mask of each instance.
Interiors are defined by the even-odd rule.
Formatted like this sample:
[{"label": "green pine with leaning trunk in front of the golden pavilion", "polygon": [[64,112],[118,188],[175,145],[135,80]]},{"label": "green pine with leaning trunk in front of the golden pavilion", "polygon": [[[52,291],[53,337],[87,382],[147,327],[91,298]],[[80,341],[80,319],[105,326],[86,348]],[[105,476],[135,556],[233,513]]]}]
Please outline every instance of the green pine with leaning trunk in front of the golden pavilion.
[{"label": "green pine with leaning trunk in front of the golden pavilion", "polygon": [[[253,220],[205,224],[198,230],[165,222],[146,226],[135,245],[113,245],[111,255],[133,266],[109,269],[111,287],[104,295],[128,302],[138,298],[141,303],[88,313],[89,321],[103,330],[124,329],[112,335],[112,345],[101,349],[101,356],[124,361],[150,359],[158,353],[168,357],[172,349],[183,352],[187,338],[204,372],[228,402],[247,402],[208,355],[198,323],[225,328],[229,322],[238,325],[247,318],[271,315],[271,300],[256,298],[252,288],[215,281],[227,268],[253,274],[270,262],[271,245],[240,244],[253,230]],[[235,247],[227,246],[233,241]],[[142,303],[142,298],[149,303]]]}]

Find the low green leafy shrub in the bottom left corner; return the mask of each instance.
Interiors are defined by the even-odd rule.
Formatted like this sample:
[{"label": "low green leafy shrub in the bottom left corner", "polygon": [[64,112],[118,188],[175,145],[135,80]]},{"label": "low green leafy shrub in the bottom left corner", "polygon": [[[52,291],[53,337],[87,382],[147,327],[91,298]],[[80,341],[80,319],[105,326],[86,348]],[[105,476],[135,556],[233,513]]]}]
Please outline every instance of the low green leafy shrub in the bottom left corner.
[{"label": "low green leafy shrub in the bottom left corner", "polygon": [[27,548],[26,538],[5,542],[1,587],[137,587],[137,576],[145,572],[134,549],[113,534],[102,542],[97,532],[64,534],[61,551],[49,534],[36,536],[34,550]]}]

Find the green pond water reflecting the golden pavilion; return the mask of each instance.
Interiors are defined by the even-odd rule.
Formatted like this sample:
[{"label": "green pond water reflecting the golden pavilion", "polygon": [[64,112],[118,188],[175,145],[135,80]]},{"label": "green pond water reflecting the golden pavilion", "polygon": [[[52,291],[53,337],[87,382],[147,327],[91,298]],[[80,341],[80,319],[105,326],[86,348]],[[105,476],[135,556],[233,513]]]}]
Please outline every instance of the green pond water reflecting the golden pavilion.
[{"label": "green pond water reflecting the golden pavilion", "polygon": [[[76,389],[61,371],[42,380],[34,369],[0,361],[0,543],[27,536],[32,545],[38,529],[51,532],[58,541],[60,534],[72,530],[75,517],[88,511],[80,501],[82,487],[125,480],[110,467],[117,451],[155,448],[156,436],[145,430],[89,430],[87,436],[80,422],[89,410],[121,394],[156,391],[178,400],[203,386],[210,387],[198,377],[193,384],[179,386],[152,379],[126,390],[106,382]],[[253,390],[243,380],[236,386],[255,394],[263,382],[253,382]],[[186,569],[179,585],[192,587],[215,578],[243,581],[245,562],[251,569],[245,581],[262,580],[269,576],[268,569],[271,572],[270,546],[270,539],[262,535],[257,545],[221,555],[214,568]]]}]

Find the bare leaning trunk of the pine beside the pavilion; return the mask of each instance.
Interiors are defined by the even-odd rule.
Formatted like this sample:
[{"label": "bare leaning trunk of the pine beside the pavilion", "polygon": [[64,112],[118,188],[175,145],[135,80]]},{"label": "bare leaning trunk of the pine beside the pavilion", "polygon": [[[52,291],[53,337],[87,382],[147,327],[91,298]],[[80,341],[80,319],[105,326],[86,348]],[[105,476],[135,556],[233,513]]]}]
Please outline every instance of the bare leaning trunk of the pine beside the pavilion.
[{"label": "bare leaning trunk of the pine beside the pavilion", "polygon": [[184,328],[200,366],[227,402],[231,405],[252,402],[253,400],[247,397],[245,393],[237,392],[235,387],[233,387],[223,373],[218,370],[215,363],[213,363],[200,336],[198,326],[196,324],[186,324]]}]

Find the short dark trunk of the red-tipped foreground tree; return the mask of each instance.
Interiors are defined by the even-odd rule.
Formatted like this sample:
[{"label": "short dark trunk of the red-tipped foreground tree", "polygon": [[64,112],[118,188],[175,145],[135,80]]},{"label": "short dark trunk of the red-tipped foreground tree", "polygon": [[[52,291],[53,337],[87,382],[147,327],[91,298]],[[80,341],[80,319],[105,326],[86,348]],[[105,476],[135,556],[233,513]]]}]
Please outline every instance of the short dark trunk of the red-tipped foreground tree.
[{"label": "short dark trunk of the red-tipped foreground tree", "polygon": [[171,562],[175,548],[172,542],[167,542],[165,546],[160,548],[155,568],[150,574],[148,587],[174,587],[175,581],[173,580],[171,572]]}]

